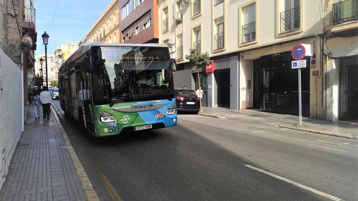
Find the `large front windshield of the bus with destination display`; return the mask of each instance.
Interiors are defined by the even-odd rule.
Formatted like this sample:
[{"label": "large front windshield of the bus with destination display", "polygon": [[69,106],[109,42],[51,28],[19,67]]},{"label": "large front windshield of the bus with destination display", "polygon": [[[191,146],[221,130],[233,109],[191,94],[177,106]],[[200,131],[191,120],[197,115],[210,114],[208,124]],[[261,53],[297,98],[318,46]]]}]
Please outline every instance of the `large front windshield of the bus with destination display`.
[{"label": "large front windshield of the bus with destination display", "polygon": [[174,98],[167,48],[101,46],[92,53],[94,104]]}]

